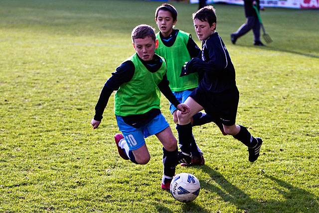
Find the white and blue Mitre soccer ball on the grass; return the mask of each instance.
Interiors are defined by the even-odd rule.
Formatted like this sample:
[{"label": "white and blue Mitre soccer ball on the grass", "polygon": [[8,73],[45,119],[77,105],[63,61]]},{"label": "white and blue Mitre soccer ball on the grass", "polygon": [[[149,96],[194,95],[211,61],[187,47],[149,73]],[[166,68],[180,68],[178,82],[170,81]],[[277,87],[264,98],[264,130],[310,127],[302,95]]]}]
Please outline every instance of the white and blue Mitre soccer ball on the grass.
[{"label": "white and blue Mitre soccer ball on the grass", "polygon": [[170,193],[179,202],[187,203],[195,200],[199,195],[198,179],[189,173],[180,173],[173,177],[170,183]]}]

